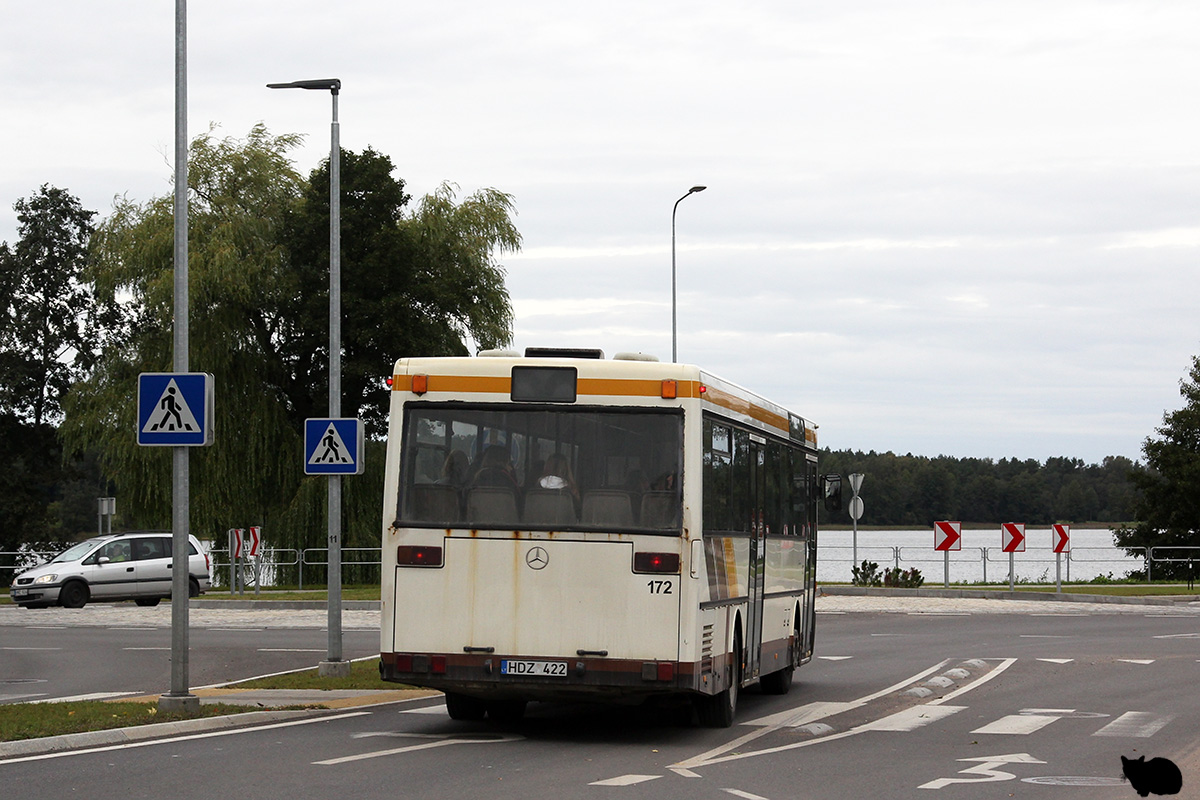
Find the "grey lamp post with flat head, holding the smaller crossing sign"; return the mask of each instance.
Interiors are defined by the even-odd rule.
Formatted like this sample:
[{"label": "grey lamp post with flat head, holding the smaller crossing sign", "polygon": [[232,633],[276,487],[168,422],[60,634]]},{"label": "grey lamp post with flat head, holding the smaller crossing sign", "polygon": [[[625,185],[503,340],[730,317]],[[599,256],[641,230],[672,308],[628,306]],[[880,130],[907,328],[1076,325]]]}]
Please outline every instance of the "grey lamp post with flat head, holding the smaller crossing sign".
[{"label": "grey lamp post with flat head, holding the smaller crossing sign", "polygon": [[[342,146],[338,139],[338,78],[269,83],[268,89],[316,89],[334,97],[329,145],[329,416],[342,415]],[[344,676],[350,664],[342,660],[342,476],[329,476],[329,652],[320,674]]]}]

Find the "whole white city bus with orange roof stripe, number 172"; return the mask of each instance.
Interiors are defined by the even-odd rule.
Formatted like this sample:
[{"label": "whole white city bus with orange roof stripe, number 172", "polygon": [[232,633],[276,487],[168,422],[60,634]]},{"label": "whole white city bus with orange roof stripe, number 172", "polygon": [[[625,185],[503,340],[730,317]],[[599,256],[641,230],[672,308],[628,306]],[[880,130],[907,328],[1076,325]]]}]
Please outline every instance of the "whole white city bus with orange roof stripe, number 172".
[{"label": "whole white city bus with orange roof stripe, number 172", "polygon": [[812,656],[815,426],[698,367],[592,350],[401,359],[380,672],[456,720],[691,696],[732,724]]}]

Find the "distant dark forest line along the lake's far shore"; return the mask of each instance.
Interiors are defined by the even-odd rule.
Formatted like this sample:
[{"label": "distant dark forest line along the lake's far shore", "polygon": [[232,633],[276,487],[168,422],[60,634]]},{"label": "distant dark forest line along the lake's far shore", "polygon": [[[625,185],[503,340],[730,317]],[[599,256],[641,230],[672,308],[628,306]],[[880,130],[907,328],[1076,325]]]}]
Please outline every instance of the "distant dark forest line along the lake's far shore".
[{"label": "distant dark forest line along the lake's far shore", "polygon": [[[938,519],[964,523],[1128,522],[1134,518],[1136,488],[1129,473],[1142,467],[1122,456],[1100,464],[1078,458],[952,458],[896,456],[892,452],[824,450],[821,474],[862,473],[864,512],[860,525],[932,525]],[[848,482],[842,485],[848,505]],[[850,524],[841,511],[826,515],[832,524]]]}]

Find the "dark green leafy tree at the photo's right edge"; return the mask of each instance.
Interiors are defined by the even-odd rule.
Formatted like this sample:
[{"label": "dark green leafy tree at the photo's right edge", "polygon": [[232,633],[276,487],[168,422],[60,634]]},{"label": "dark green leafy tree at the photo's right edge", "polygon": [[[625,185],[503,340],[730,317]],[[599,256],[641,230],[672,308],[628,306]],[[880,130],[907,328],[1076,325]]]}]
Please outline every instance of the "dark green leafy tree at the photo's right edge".
[{"label": "dark green leafy tree at the photo's right edge", "polygon": [[[1117,547],[1200,546],[1200,356],[1192,359],[1180,395],[1183,408],[1165,413],[1158,437],[1142,443],[1145,468],[1130,474],[1141,493],[1134,506],[1138,523],[1116,531]],[[1156,565],[1153,577],[1186,578],[1187,565]]]}]

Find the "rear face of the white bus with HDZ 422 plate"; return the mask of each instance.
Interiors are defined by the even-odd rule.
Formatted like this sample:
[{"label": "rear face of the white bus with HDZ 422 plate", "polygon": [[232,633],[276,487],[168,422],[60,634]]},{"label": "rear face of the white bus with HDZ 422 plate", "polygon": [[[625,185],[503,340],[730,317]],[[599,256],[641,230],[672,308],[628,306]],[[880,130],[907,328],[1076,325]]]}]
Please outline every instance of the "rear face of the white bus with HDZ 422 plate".
[{"label": "rear face of the white bus with HDZ 422 plate", "polygon": [[695,372],[563,357],[398,361],[384,679],[446,692],[456,718],[692,690],[680,652],[689,552],[677,395]]}]

